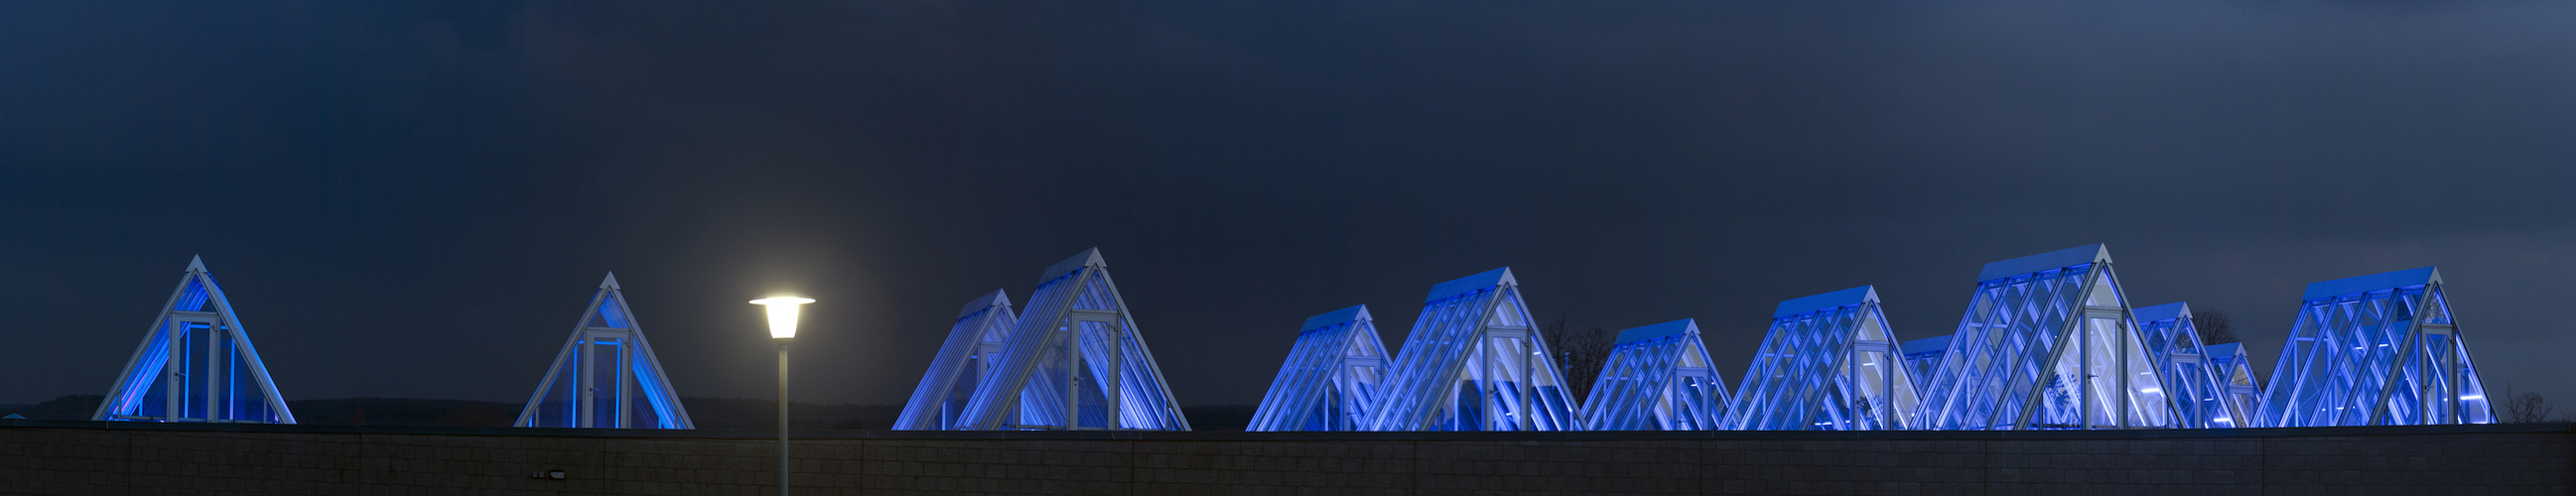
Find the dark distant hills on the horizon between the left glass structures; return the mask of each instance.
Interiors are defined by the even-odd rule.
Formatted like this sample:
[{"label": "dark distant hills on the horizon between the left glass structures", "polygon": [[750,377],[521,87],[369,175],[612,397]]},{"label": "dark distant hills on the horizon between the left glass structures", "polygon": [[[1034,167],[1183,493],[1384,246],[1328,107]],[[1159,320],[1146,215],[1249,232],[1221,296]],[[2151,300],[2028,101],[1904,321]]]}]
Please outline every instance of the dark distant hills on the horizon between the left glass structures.
[{"label": "dark distant hills on the horizon between the left glass structures", "polygon": [[[75,393],[31,406],[0,406],[0,416],[85,421],[106,396]],[[778,401],[770,398],[680,398],[698,429],[775,429]],[[296,424],[343,427],[510,427],[520,403],[464,398],[304,398],[286,401]],[[1200,432],[1242,432],[1252,406],[1185,406],[1182,416]],[[899,406],[886,403],[796,403],[796,429],[891,429]]]}]

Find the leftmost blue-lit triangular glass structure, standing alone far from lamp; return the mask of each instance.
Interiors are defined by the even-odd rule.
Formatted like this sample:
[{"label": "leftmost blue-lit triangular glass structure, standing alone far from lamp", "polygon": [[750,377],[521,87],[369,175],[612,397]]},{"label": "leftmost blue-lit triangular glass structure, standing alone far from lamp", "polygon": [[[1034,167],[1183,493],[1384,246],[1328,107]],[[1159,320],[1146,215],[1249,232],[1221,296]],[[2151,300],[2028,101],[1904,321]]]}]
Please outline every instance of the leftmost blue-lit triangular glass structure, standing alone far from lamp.
[{"label": "leftmost blue-lit triangular glass structure, standing alone far from lamp", "polygon": [[196,257],[90,419],[296,424],[224,288]]}]

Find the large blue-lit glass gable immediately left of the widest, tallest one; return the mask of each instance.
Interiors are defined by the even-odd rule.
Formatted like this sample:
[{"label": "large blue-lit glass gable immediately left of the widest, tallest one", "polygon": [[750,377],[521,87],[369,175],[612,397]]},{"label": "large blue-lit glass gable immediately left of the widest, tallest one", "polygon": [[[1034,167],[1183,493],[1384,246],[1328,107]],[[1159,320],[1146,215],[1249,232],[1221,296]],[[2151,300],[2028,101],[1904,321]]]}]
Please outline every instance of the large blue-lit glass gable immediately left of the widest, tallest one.
[{"label": "large blue-lit glass gable immediately left of the widest, tallest one", "polygon": [[1914,429],[1914,370],[1904,365],[1870,285],[1780,301],[1736,388],[1728,429]]}]

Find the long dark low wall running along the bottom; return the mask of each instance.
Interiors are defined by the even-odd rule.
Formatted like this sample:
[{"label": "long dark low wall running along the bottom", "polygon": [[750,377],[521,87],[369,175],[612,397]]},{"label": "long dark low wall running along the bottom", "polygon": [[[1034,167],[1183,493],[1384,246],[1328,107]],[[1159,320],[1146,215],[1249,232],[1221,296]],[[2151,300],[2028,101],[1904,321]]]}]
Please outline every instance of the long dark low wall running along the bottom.
[{"label": "long dark low wall running along the bottom", "polygon": [[[773,437],[0,421],[0,493],[775,493]],[[2571,460],[2568,424],[799,432],[796,493],[2571,493]]]}]

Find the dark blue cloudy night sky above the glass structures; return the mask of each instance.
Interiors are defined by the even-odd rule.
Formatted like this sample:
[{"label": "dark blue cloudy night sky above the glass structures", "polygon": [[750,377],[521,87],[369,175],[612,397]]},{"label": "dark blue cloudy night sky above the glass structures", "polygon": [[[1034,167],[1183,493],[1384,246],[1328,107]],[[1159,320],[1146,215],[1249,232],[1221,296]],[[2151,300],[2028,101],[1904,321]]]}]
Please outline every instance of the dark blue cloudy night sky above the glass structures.
[{"label": "dark blue cloudy night sky above the glass structures", "polygon": [[[2306,283],[2439,265],[2576,401],[2576,3],[0,3],[0,403],[106,393],[191,254],[289,398],[526,401],[616,272],[683,396],[902,403],[1100,247],[1180,403],[1510,265],[1543,321],[2110,244],[2269,380]],[[2566,409],[2561,409],[2566,411]]]}]

